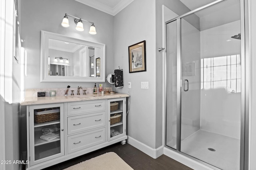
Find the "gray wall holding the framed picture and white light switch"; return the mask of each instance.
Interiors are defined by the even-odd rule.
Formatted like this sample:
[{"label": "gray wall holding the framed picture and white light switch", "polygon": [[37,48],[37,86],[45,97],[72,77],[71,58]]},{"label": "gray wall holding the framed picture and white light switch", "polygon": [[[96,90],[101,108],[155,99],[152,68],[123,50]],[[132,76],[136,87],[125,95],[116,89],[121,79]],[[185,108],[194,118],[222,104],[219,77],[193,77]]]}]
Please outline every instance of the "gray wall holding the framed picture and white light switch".
[{"label": "gray wall holding the framed picture and white light switch", "polygon": [[[135,0],[114,16],[114,66],[124,70],[124,88],[131,104],[128,114],[128,135],[156,148],[156,28],[155,0]],[[146,72],[129,73],[128,47],[146,40]],[[159,68],[161,69],[161,68]],[[148,89],[141,89],[140,82],[148,82]]]}]

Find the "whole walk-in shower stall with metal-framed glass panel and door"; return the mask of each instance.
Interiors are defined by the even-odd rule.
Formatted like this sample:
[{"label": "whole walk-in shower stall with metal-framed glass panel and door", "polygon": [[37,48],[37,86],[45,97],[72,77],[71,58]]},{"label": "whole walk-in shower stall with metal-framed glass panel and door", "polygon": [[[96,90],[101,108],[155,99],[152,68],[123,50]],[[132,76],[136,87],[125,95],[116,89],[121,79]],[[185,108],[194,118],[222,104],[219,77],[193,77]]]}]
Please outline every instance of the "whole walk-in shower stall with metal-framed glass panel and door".
[{"label": "whole walk-in shower stall with metal-framed glass panel and door", "polygon": [[166,22],[166,147],[214,169],[244,167],[242,0]]}]

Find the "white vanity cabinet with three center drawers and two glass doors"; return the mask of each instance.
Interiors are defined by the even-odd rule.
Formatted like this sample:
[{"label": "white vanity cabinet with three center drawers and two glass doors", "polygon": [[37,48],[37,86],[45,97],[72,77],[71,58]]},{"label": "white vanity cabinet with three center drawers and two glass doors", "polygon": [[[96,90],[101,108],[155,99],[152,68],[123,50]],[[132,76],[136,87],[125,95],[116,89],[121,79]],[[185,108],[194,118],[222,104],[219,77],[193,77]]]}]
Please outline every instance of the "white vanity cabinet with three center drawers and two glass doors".
[{"label": "white vanity cabinet with three center drawers and two glass doors", "polygon": [[[56,104],[54,98],[45,97],[38,100],[46,100],[45,104],[27,104],[29,163],[26,168],[43,169],[114,143],[125,144],[128,95],[115,95],[95,96],[90,100],[90,97],[85,100],[71,98],[70,101],[63,97],[63,102]],[[58,99],[56,102],[62,100],[61,97],[55,99]],[[111,118],[118,115],[119,120],[111,123]],[[59,135],[50,141],[40,139],[43,132],[48,129],[57,130],[53,133]]]}]

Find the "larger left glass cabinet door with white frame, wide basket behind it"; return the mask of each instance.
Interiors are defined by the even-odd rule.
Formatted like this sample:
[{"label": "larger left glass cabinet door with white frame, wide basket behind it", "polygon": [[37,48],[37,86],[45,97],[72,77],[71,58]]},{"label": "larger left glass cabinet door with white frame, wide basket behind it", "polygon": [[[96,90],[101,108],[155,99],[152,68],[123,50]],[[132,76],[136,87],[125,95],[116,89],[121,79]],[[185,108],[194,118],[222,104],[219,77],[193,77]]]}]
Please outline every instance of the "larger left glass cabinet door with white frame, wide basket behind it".
[{"label": "larger left glass cabinet door with white frame, wide basket behind it", "polygon": [[64,104],[29,106],[30,166],[64,155]]}]

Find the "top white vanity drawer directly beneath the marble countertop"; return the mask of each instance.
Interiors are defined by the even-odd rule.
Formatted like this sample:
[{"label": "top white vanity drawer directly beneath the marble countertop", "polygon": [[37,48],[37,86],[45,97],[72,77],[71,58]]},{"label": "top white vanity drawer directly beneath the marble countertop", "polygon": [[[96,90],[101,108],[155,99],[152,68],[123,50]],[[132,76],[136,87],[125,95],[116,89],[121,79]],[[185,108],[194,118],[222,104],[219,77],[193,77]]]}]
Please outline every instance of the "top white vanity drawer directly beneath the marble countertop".
[{"label": "top white vanity drawer directly beneath the marble countertop", "polygon": [[103,111],[105,109],[106,109],[105,100],[93,100],[93,101],[85,101],[85,102],[68,103],[68,115]]}]

